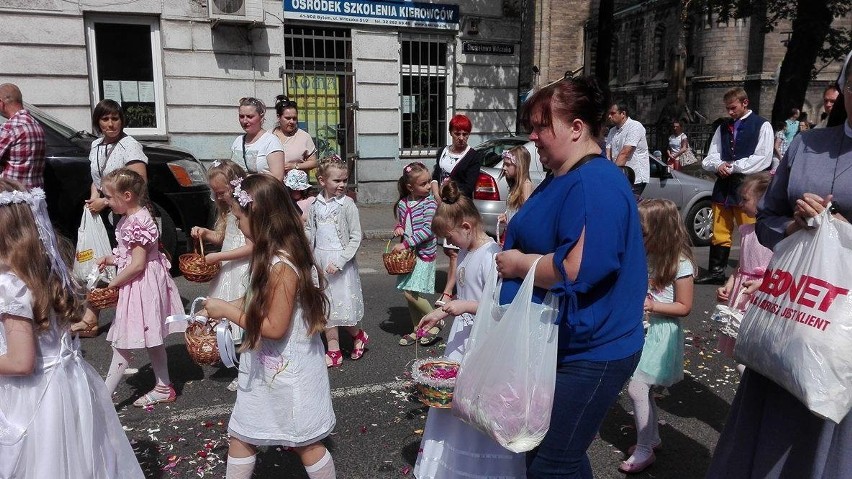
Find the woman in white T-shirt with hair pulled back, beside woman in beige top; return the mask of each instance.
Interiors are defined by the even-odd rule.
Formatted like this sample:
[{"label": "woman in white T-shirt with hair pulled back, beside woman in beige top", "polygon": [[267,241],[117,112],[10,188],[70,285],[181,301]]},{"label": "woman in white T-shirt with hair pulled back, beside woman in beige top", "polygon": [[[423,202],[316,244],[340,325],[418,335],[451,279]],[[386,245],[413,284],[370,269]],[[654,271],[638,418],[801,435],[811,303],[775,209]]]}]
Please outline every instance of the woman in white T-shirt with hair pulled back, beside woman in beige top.
[{"label": "woman in white T-shirt with hair pulled back, beside woman in beige top", "polygon": [[244,134],[231,145],[231,161],[249,173],[266,173],[284,181],[284,148],[277,136],[263,129],[266,105],[257,98],[240,98],[239,120]]}]

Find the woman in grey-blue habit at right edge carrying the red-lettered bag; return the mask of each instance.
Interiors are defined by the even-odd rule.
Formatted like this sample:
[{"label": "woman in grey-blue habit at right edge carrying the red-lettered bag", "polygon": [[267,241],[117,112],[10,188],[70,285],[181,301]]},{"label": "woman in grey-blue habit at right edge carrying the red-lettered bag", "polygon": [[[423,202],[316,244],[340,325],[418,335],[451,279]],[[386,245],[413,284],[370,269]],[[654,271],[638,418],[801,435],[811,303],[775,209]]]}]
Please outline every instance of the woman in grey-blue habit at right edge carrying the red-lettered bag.
[{"label": "woman in grey-blue habit at right edge carrying the red-lettered bag", "polygon": [[[852,218],[850,59],[852,52],[837,80],[841,95],[828,127],[793,138],[758,205],[755,231],[767,248],[809,228],[808,220],[822,214],[829,203],[836,220]],[[707,477],[852,477],[850,451],[850,414],[839,424],[818,417],[787,390],[747,368]]]}]

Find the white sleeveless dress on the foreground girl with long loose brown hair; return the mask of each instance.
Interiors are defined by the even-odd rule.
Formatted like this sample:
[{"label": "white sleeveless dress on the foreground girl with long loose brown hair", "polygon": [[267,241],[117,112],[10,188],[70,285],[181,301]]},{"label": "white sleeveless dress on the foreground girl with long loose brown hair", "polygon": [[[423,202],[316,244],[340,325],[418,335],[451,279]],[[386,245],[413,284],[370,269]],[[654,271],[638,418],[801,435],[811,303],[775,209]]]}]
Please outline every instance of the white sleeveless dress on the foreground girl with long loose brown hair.
[{"label": "white sleeveless dress on the foreground girl with long loose brown hair", "polygon": [[[275,258],[272,266],[286,259]],[[325,348],[308,336],[302,307],[293,309],[290,331],[280,340],[261,339],[242,354],[237,402],[228,433],[248,444],[299,447],[334,429]]]}]

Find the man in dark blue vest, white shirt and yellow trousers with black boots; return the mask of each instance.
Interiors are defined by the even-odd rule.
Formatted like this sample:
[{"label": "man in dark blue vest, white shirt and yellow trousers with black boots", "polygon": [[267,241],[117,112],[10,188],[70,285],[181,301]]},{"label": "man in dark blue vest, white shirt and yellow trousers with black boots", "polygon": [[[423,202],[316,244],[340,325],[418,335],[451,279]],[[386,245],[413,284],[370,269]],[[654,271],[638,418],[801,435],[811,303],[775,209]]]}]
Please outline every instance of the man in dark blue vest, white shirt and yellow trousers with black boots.
[{"label": "man in dark blue vest, white shirt and yellow trousers with black boots", "polygon": [[701,162],[717,179],[713,185],[713,238],[708,271],[695,280],[696,284],[725,283],[734,228],[754,223],[754,218],[740,208],[740,184],[746,175],[772,166],[775,143],[772,126],[748,109],[748,95],[742,88],[731,88],[723,100],[731,118],[716,129],[707,156]]}]

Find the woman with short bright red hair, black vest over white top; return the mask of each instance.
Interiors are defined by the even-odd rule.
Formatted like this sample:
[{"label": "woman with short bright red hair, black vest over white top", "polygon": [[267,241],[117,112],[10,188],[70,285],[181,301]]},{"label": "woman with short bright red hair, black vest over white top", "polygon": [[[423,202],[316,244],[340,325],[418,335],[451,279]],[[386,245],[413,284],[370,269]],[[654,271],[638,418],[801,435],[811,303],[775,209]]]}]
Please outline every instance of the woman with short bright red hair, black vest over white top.
[{"label": "woman with short bright red hair, black vest over white top", "polygon": [[[435,169],[432,170],[432,196],[438,204],[441,202],[441,186],[450,180],[456,182],[462,195],[473,199],[473,190],[476,188],[476,179],[479,178],[479,169],[482,166],[482,156],[467,144],[472,129],[470,118],[465,115],[455,115],[450,119],[450,137],[453,142],[441,148],[435,158]],[[444,240],[444,254],[450,258],[450,267],[447,270],[444,291],[435,301],[435,306],[443,306],[453,299],[453,288],[456,286],[458,248]],[[427,342],[431,342],[438,332],[440,329],[432,328],[432,331],[428,332]]]}]

